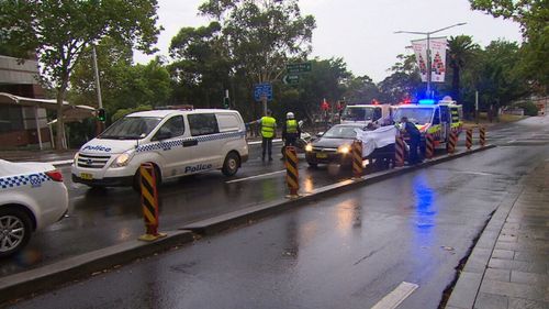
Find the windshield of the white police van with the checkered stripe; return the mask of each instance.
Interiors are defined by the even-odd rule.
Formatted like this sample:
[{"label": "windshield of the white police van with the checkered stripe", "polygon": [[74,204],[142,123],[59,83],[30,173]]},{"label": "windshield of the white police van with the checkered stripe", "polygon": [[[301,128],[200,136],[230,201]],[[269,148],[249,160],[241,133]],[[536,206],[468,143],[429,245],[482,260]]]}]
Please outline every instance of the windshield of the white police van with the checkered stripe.
[{"label": "windshield of the white police van with the checkered stripe", "polygon": [[109,126],[98,139],[136,140],[147,136],[163,120],[158,117],[124,117]]}]

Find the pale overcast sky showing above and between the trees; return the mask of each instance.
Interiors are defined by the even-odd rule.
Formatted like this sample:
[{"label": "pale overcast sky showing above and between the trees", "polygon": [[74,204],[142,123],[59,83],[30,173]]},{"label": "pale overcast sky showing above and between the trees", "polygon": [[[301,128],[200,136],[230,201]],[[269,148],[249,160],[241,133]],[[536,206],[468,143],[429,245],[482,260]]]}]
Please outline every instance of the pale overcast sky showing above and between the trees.
[{"label": "pale overcast sky showing above and between the trees", "polygon": [[[171,37],[183,26],[206,25],[210,20],[198,16],[204,0],[159,0],[160,33],[157,47],[168,55]],[[432,32],[460,22],[434,36],[467,34],[481,46],[504,38],[520,42],[516,23],[471,11],[468,0],[300,0],[302,14],[316,19],[313,54],[323,59],[343,57],[356,76],[368,75],[381,81],[396,62],[396,55],[412,53],[411,40],[425,36],[394,34],[395,31]],[[137,63],[152,57],[136,53]]]}]

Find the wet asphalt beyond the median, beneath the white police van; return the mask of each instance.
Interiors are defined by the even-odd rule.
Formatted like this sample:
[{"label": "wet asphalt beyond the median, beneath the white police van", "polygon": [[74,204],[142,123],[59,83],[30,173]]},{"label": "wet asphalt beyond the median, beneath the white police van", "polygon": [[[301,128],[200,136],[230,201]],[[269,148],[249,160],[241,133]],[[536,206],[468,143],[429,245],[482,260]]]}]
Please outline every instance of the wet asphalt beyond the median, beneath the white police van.
[{"label": "wet asphalt beyond the median, beneath the white police van", "polygon": [[[232,178],[213,170],[163,184],[160,230],[176,230],[190,222],[283,198],[287,187],[280,145],[273,146],[272,162],[261,162],[260,146],[251,145],[250,159]],[[338,166],[310,169],[303,154],[300,156],[304,194],[350,177],[350,170]],[[0,260],[0,277],[134,240],[145,232],[141,197],[132,188],[90,189],[70,180],[69,166],[60,169],[69,189],[68,218],[33,234],[20,254]]]}]

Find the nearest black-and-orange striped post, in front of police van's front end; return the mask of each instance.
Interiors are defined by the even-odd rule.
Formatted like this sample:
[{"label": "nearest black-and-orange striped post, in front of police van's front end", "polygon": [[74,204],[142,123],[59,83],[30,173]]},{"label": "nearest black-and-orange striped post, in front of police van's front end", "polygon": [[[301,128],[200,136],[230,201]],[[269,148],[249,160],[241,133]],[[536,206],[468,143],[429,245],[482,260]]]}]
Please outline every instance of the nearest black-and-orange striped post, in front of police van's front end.
[{"label": "nearest black-and-orange striped post, in front of police van's front end", "polygon": [[143,207],[143,219],[145,221],[146,234],[141,235],[141,241],[155,241],[166,236],[158,233],[158,191],[156,188],[155,167],[150,163],[139,166],[141,175],[141,203]]}]

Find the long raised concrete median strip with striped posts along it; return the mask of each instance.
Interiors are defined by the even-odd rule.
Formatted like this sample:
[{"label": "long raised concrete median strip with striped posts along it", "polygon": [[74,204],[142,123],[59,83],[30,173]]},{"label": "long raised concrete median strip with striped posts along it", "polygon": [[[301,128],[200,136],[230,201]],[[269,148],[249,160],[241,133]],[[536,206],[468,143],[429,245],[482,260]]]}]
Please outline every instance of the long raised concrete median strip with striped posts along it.
[{"label": "long raised concrete median strip with striped posts along it", "polygon": [[295,207],[309,205],[317,199],[334,196],[344,191],[359,188],[369,184],[379,183],[384,179],[411,173],[423,167],[444,163],[453,158],[474,154],[480,151],[495,147],[486,145],[471,151],[463,151],[452,155],[445,155],[423,164],[408,167],[393,168],[372,175],[366,175],[357,179],[348,179],[333,185],[314,189],[310,194],[304,194],[299,198],[280,198],[271,202],[237,210],[234,212],[217,216],[211,219],[198,221],[182,227],[179,231],[168,231],[168,236],[157,241],[145,243],[128,241],[110,247],[97,250],[79,256],[70,257],[57,263],[53,263],[36,269],[22,272],[19,274],[0,278],[0,302],[5,302],[16,298],[30,296],[34,293],[45,291],[55,288],[64,283],[86,278],[93,273],[130,263],[136,258],[145,257],[154,253],[168,250],[176,245],[192,242],[200,235],[210,235],[220,231],[260,220],[268,216],[277,214]]}]

